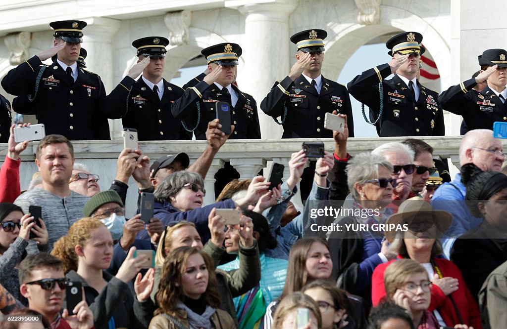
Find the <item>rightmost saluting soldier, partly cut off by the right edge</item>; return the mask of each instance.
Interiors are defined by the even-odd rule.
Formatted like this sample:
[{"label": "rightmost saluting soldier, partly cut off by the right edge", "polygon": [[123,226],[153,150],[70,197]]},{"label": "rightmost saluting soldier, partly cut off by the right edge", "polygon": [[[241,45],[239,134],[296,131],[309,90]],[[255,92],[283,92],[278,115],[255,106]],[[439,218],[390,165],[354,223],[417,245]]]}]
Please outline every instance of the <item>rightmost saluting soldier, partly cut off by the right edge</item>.
[{"label": "rightmost saluting soldier, partly cut off by the right edge", "polygon": [[[493,129],[493,122],[507,122],[507,51],[488,49],[478,56],[481,72],[476,77],[452,86],[439,97],[442,107],[463,116],[468,131]],[[476,90],[486,81],[487,86]]]}]

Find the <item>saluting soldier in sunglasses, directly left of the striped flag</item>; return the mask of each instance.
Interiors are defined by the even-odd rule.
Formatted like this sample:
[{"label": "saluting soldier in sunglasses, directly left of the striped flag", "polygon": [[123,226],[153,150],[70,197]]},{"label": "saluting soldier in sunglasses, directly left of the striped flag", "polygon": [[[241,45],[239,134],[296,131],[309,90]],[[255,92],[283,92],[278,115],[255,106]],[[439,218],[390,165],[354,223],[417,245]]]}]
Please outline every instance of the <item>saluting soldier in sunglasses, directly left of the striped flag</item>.
[{"label": "saluting soldier in sunglasses, directly left of the striped flag", "polygon": [[[421,42],[417,32],[391,37],[386,43],[391,61],[357,75],[347,85],[352,96],[370,107],[371,117],[378,118],[380,137],[445,134],[438,93],[416,78],[420,56],[426,50]],[[391,74],[394,77],[386,80]]]}]

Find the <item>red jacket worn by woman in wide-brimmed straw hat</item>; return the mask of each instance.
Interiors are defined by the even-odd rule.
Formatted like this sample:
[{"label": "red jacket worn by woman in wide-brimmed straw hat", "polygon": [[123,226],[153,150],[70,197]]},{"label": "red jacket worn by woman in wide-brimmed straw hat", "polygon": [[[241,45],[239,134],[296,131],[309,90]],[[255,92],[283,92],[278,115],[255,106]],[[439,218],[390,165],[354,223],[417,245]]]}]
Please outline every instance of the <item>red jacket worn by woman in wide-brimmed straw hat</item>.
[{"label": "red jacket worn by woman in wide-brimmed straw hat", "polygon": [[[398,256],[398,258],[401,259],[403,257]],[[394,261],[395,260],[392,260],[384,264],[380,264],[375,268],[375,271],[373,271],[372,276],[373,306],[377,306],[380,303],[380,300],[386,296],[384,287],[384,272],[386,267]],[[453,262],[448,261],[447,259],[433,258],[433,261],[440,268],[440,270],[442,271],[442,275],[444,277],[450,276],[458,279],[459,289],[454,293],[452,293],[451,296],[454,300],[454,303],[456,304],[456,307],[459,311],[459,314],[461,315],[461,318],[465,322],[463,324],[471,325],[474,327],[474,329],[482,329],[481,314],[479,313],[479,307],[477,306],[477,303],[472,297],[472,294],[468,290],[465,280],[463,279],[463,276],[461,275],[461,272],[459,271],[458,267],[454,265]],[[444,295],[444,292],[442,292],[442,290],[436,284],[433,284],[431,288],[431,303],[429,304],[428,311],[432,312],[435,309],[439,311],[446,325],[454,326],[456,324],[461,323],[458,314],[456,314],[456,310],[452,305],[451,300],[447,298],[446,295]]]}]

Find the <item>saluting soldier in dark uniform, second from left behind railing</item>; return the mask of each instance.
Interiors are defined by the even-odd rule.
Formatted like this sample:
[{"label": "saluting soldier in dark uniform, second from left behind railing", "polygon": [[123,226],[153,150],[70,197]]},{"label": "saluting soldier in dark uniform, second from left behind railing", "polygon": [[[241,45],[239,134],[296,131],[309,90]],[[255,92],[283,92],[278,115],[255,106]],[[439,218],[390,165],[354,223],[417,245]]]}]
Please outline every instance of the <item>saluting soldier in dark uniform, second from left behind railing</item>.
[{"label": "saluting soldier in dark uniform, second from left behind railing", "polygon": [[137,49],[137,64],[108,96],[108,103],[116,117],[122,118],[123,127],[137,129],[142,141],[192,139],[192,134],[171,113],[173,103],[184,91],[162,77],[167,45],[169,40],[162,36],[135,40],[132,46]]}]

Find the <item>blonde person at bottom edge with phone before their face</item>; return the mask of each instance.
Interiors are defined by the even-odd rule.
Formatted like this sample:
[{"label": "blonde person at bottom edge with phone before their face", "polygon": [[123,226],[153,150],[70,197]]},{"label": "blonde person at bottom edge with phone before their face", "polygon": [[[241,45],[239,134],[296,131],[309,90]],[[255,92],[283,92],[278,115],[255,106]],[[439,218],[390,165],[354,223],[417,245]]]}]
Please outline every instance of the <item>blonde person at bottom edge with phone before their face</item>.
[{"label": "blonde person at bottom edge with phone before their face", "polygon": [[[298,312],[308,310],[309,321],[298,323]],[[273,317],[273,328],[275,329],[317,329],[322,327],[322,319],[317,303],[301,292],[287,295],[278,305]]]}]

